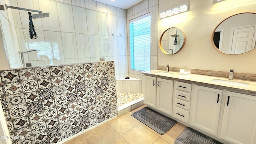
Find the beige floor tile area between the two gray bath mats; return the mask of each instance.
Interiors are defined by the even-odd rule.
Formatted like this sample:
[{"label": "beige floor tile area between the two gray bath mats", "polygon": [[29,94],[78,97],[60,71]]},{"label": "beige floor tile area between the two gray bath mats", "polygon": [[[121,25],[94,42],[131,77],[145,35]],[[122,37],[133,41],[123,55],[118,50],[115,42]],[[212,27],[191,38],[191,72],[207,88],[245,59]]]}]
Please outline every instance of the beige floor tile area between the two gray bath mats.
[{"label": "beige floor tile area between the two gray bath mats", "polygon": [[175,124],[170,130],[168,130],[168,132],[162,135],[161,138],[171,144],[183,132],[185,128],[186,126],[177,122],[177,124]]}]

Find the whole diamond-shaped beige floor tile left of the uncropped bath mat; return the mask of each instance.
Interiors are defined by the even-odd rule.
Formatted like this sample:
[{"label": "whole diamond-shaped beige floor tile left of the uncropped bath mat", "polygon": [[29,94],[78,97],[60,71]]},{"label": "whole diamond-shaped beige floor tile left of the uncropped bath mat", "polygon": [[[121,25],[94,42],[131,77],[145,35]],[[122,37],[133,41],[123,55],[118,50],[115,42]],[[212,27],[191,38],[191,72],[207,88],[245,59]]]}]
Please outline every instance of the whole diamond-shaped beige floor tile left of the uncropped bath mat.
[{"label": "whole diamond-shaped beige floor tile left of the uncropped bath mat", "polygon": [[124,114],[108,122],[112,128],[114,128],[120,135],[124,134],[137,124],[136,120],[131,118],[129,115]]}]

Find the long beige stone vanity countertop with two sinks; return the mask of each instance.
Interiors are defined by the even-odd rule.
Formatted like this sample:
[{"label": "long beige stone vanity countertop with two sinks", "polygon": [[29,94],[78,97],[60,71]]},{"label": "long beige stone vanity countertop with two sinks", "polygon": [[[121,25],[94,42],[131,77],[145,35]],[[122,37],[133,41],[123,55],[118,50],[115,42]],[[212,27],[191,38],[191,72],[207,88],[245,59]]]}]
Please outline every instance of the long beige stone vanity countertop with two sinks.
[{"label": "long beige stone vanity countertop with two sinks", "polygon": [[[256,96],[256,82],[248,80],[239,80],[233,79],[228,80],[228,78],[216,77],[216,76],[207,76],[200,74],[190,74],[190,75],[181,75],[179,72],[166,72],[165,70],[150,70],[142,72],[146,76],[158,76],[159,78],[165,78],[170,80],[178,80],[181,82],[200,84],[203,86],[210,86],[215,88],[221,88],[226,90],[232,90],[236,92],[241,92],[245,94],[251,94]],[[212,82],[213,79],[223,80],[227,83]],[[233,82],[238,83],[238,85],[232,84]],[[248,86],[239,86],[239,84],[248,84]]]}]

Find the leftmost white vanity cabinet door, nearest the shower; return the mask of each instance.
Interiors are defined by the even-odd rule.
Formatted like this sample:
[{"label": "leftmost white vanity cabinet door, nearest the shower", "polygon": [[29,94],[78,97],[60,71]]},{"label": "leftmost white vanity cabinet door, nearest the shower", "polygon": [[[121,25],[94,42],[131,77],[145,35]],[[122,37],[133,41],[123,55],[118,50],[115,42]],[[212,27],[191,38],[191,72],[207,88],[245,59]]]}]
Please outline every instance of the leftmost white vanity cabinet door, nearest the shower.
[{"label": "leftmost white vanity cabinet door, nearest the shower", "polygon": [[144,103],[152,108],[156,108],[156,78],[145,76],[145,96]]}]

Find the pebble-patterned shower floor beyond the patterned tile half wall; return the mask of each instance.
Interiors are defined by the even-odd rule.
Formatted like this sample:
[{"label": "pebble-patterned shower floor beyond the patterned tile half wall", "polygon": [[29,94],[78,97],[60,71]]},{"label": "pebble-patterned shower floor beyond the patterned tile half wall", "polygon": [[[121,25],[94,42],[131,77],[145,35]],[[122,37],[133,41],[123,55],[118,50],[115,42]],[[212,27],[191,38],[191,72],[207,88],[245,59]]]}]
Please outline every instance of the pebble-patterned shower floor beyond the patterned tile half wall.
[{"label": "pebble-patterned shower floor beyond the patterned tile half wall", "polygon": [[138,100],[144,97],[142,93],[117,93],[117,107],[128,104],[129,102]]}]

